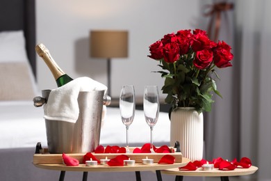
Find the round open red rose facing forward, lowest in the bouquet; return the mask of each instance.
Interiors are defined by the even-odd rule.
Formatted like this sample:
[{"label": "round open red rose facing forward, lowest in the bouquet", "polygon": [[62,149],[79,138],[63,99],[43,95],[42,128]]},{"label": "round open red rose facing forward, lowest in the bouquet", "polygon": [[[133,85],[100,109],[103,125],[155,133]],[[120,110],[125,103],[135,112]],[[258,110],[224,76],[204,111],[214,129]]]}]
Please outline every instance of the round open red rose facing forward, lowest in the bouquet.
[{"label": "round open red rose facing forward, lowest in the bouquet", "polygon": [[208,65],[210,65],[213,61],[213,52],[211,49],[204,49],[202,51],[199,51],[196,53],[195,60],[193,61],[193,64],[196,68],[202,70],[204,68],[207,68]]}]

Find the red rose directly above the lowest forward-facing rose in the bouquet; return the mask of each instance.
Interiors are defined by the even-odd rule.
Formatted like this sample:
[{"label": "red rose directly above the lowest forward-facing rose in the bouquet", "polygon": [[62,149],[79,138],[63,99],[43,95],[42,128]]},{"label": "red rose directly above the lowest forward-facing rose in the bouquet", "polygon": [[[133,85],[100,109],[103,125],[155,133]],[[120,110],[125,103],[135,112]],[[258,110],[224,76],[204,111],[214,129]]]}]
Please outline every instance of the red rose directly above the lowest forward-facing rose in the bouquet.
[{"label": "red rose directly above the lowest forward-facing rose in the bouquet", "polygon": [[211,49],[217,44],[210,40],[204,33],[197,33],[191,38],[191,46],[194,52],[201,51],[202,49]]}]

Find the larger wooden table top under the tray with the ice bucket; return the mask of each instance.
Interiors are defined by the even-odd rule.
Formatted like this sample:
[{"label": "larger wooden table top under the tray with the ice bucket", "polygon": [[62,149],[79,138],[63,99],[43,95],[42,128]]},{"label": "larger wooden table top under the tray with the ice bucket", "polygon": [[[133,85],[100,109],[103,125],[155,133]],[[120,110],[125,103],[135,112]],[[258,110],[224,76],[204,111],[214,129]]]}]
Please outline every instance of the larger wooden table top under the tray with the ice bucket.
[{"label": "larger wooden table top under the tray with the ice bucket", "polygon": [[34,164],[38,168],[44,168],[48,170],[55,171],[97,171],[97,172],[120,172],[120,171],[159,171],[168,168],[178,168],[180,166],[185,166],[190,162],[190,159],[183,158],[181,163],[174,164],[151,164],[145,165],[141,163],[136,163],[135,166],[108,166],[108,165],[98,165],[98,166],[85,166],[85,164],[79,164],[79,166],[65,166],[64,164]]}]

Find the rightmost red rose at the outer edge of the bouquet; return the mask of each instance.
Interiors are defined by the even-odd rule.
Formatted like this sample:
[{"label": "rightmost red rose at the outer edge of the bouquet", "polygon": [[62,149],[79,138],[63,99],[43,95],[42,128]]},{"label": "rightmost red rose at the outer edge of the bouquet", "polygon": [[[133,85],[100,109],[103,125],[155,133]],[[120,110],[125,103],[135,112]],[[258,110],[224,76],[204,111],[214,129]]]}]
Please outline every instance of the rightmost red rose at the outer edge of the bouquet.
[{"label": "rightmost red rose at the outer edge of the bouquet", "polygon": [[231,61],[233,59],[233,54],[231,54],[231,47],[227,45],[226,42],[218,42],[217,47],[213,49],[214,61],[217,68],[227,68],[231,67]]}]

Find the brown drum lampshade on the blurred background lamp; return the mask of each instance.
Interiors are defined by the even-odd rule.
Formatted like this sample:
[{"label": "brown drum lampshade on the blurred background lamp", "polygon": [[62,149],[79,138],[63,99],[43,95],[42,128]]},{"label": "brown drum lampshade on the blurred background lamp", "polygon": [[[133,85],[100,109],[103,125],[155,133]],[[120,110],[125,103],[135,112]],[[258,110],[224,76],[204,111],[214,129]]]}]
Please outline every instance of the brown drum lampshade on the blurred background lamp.
[{"label": "brown drum lampshade on the blurred background lamp", "polygon": [[124,58],[128,56],[128,31],[90,31],[90,56]]}]

